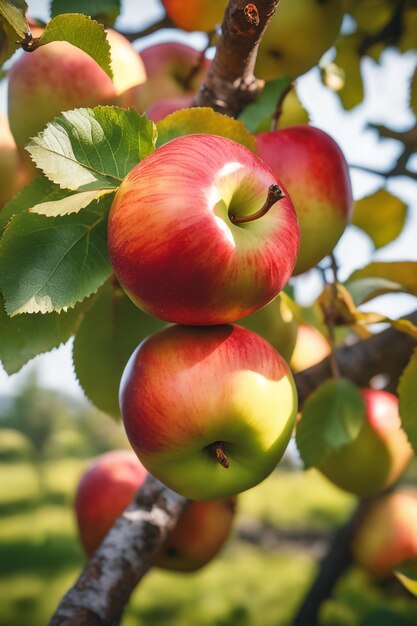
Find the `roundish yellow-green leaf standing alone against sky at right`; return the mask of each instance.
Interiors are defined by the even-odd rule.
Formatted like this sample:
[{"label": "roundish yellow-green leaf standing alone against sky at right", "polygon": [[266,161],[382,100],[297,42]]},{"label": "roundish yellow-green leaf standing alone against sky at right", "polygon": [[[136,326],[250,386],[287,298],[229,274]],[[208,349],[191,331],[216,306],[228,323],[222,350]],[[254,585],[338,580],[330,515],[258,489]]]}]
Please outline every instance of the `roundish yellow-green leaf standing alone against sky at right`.
[{"label": "roundish yellow-green leaf standing alone against sky at right", "polygon": [[352,224],[372,239],[375,248],[382,248],[398,237],[404,228],[407,205],[386,189],[355,202]]}]

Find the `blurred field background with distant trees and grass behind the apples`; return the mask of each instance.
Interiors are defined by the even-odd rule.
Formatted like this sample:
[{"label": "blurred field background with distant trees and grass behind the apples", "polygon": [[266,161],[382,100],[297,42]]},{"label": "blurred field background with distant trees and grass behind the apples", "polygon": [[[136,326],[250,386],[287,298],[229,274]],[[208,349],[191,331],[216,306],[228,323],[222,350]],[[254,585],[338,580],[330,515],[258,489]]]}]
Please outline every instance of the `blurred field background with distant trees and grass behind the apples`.
[{"label": "blurred field background with distant trees and grass behind the apples", "polygon": [[[84,563],[72,502],[92,456],[125,447],[119,425],[38,385],[0,395],[0,626],[45,626]],[[416,468],[405,479],[416,482]],[[291,458],[240,497],[235,531],[196,574],[153,570],[123,626],[290,626],[331,531],[355,505]],[[352,567],[323,626],[415,626],[417,602],[393,579],[377,586]]]}]

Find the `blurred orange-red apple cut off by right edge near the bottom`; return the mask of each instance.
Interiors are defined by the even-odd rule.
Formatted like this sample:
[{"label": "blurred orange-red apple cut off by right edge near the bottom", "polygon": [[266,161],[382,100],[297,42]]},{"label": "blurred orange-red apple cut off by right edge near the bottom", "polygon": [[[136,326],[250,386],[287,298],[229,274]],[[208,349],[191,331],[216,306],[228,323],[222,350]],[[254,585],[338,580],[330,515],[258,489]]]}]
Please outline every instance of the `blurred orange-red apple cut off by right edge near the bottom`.
[{"label": "blurred orange-red apple cut off by right edge near the bottom", "polygon": [[417,564],[417,491],[399,489],[375,502],[359,523],[352,553],[377,579],[403,561]]}]

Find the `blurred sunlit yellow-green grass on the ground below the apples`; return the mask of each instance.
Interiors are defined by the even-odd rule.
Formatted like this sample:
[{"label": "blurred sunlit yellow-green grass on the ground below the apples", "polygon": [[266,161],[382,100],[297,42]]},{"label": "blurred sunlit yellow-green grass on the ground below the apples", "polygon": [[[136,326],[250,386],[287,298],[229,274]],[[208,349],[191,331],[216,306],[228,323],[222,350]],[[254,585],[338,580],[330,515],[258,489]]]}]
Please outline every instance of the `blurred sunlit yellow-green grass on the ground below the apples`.
[{"label": "blurred sunlit yellow-green grass on the ground below the apples", "polygon": [[[42,464],[41,483],[31,463],[0,463],[0,626],[45,626],[76,579],[84,556],[72,500],[87,463],[49,460]],[[290,626],[314,578],[315,559],[307,551],[244,543],[238,528],[255,519],[325,532],[342,523],[352,506],[353,498],[314,471],[275,472],[240,496],[236,530],[221,555],[192,575],[152,570],[135,591],[123,626]],[[323,607],[322,624],[416,624],[416,601],[403,592],[399,598],[352,568]],[[368,618],[374,621],[363,621]]]}]

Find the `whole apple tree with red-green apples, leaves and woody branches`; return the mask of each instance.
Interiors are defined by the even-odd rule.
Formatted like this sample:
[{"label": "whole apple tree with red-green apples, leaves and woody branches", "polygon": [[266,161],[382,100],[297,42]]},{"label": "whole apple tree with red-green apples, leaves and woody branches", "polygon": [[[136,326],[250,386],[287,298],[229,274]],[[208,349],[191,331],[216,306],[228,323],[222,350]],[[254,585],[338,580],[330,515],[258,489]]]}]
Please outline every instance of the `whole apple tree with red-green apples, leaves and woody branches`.
[{"label": "whole apple tree with red-green apples, leaves and woody branches", "polygon": [[[316,623],[358,524],[395,489],[417,449],[417,313],[393,318],[368,304],[417,296],[417,262],[378,255],[341,280],[334,252],[350,223],[375,251],[408,228],[407,207],[385,183],[417,178],[417,80],[414,73],[408,87],[414,124],[401,132],[373,125],[381,141],[397,142],[398,157],[385,172],[361,166],[383,184],[356,202],[346,159],[308,124],[298,85],[319,66],[346,111],[360,105],[365,58],[379,63],[392,48],[415,55],[417,4],[161,0],[162,19],[146,26],[138,6],[129,33],[117,31],[118,0],[52,0],[46,24],[28,4],[0,2],[11,129],[5,120],[0,360],[13,374],[73,338],[85,395],[118,419],[124,368],[150,336],[123,377],[121,408],[132,447],[154,475],[51,624],[119,623],[187,498],[231,497],[265,478],[288,444],[297,402],[305,468],[358,496],[294,621]],[[206,33],[207,45],[155,44],[138,55],[129,43],[162,28]],[[308,271],[322,288],[307,307],[298,276]],[[235,321],[244,328],[224,326]],[[187,327],[166,328],[172,323]],[[297,365],[306,326],[324,351]],[[206,361],[212,369],[198,369]],[[175,411],[178,423],[167,426]],[[217,428],[219,412],[229,430],[227,420]],[[252,441],[246,413],[260,424]],[[188,423],[206,429],[203,443],[181,441]],[[197,461],[179,464],[181,446],[203,450],[204,471]],[[409,587],[416,557],[417,548],[391,564]]]}]

